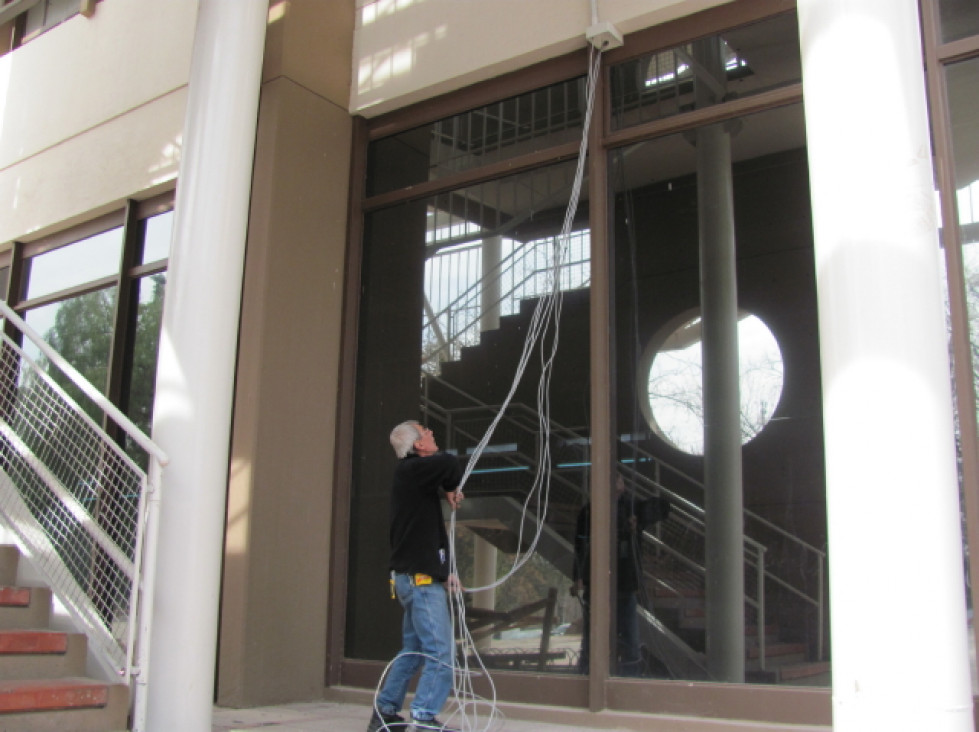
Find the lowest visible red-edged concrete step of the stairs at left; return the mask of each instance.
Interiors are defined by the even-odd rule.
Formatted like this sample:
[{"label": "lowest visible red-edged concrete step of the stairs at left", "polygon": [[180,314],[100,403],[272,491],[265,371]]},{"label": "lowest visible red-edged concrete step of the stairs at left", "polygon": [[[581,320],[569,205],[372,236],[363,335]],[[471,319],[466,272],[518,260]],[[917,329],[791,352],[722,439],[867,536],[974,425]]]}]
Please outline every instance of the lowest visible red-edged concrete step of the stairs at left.
[{"label": "lowest visible red-edged concrete step of the stairs at left", "polygon": [[0,729],[122,732],[129,690],[85,678],[0,681]]}]

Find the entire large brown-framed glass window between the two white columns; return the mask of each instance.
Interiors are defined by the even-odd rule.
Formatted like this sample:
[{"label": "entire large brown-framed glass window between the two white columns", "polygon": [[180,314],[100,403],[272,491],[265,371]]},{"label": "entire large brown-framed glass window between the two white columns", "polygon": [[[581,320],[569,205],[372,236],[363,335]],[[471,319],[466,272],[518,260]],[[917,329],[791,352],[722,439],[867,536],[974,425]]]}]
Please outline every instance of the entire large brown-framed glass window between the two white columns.
[{"label": "entire large brown-framed glass window between the two white columns", "polygon": [[[592,120],[602,143],[591,162],[605,167],[608,198],[583,199],[556,268],[581,79],[370,143],[352,406],[351,661],[388,660],[399,643],[400,611],[386,599],[387,516],[377,510],[395,463],[390,429],[417,417],[468,459],[557,281],[547,429],[535,357],[456,516],[467,587],[502,576],[544,518],[531,560],[469,598],[487,665],[547,673],[555,688],[580,683],[575,674],[829,685],[797,18],[778,13],[666,48],[600,75],[608,107]],[[669,133],[644,125],[667,117]],[[529,172],[505,175],[501,160]],[[718,268],[722,260],[730,264]],[[721,291],[735,295],[719,306]],[[721,431],[736,459],[718,457],[719,407],[729,409]],[[596,434],[599,419],[611,429]],[[552,468],[546,517],[527,501],[543,459]],[[607,476],[598,474],[604,465]],[[738,541],[718,546],[718,522],[740,527]],[[709,589],[718,578],[734,589]]]}]

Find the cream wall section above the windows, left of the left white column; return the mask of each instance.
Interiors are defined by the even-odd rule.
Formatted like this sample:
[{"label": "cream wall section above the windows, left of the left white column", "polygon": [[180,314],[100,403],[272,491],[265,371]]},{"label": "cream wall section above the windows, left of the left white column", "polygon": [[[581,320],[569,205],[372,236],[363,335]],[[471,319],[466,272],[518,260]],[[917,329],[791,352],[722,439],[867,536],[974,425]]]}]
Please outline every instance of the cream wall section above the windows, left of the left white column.
[{"label": "cream wall section above the windows, left of the left white column", "polygon": [[173,186],[196,15],[102,2],[0,57],[0,243]]}]

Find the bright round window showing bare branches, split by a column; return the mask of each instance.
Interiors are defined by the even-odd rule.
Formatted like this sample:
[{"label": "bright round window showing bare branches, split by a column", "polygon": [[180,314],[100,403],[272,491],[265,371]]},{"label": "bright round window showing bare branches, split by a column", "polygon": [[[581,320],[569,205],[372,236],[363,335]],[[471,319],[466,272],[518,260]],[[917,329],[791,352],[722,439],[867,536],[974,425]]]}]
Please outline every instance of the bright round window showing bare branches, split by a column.
[{"label": "bright round window showing bare branches, split by a column", "polygon": [[[704,454],[703,362],[699,315],[681,318],[653,339],[640,371],[650,427],[667,443],[692,455]],[[738,319],[741,444],[762,431],[782,395],[782,352],[761,318]],[[641,393],[641,392],[640,392]]]}]

